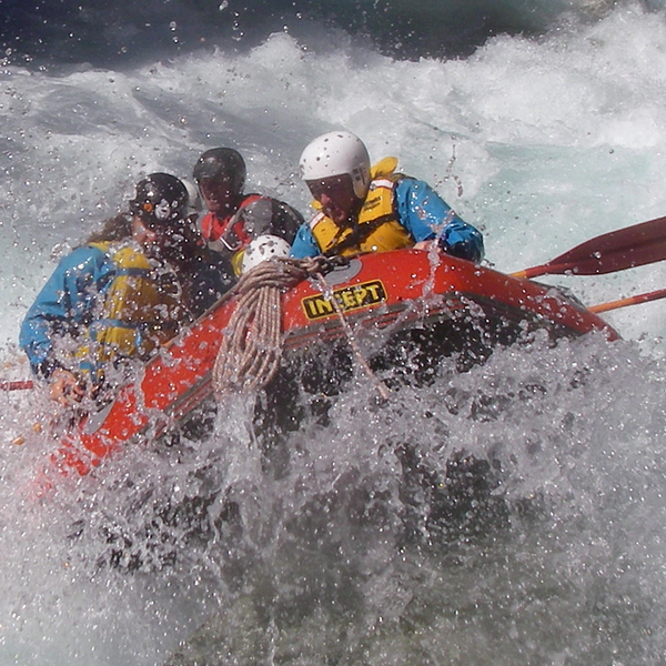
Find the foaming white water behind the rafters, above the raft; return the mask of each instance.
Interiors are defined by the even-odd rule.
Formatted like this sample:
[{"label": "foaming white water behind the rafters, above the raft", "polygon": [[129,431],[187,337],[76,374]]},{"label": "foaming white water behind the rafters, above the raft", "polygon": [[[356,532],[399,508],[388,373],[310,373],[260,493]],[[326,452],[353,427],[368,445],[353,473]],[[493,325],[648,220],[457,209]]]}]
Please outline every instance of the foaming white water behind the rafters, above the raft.
[{"label": "foaming white water behind the rafters, above the raft", "polygon": [[[138,179],[190,178],[211,145],[241,150],[251,189],[307,211],[300,152],[346,128],[373,159],[395,154],[433,183],[506,271],[663,214],[660,14],[622,9],[542,41],[498,37],[454,61],[394,61],[335,37],[276,33],[245,54],[129,71],[1,70],[3,340],[16,340],[54,261],[122,208]],[[571,286],[595,303],[663,280],[657,265]],[[609,316],[627,337],[663,333],[658,304],[635,312]]]}]

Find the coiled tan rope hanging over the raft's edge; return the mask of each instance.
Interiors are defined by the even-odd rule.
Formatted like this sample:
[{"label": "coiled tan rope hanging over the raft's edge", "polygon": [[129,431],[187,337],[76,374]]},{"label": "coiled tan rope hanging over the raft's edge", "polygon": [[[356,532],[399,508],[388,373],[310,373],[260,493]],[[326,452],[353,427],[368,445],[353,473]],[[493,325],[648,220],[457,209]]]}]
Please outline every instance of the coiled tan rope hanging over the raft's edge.
[{"label": "coiled tan rope hanging over the raft's edge", "polygon": [[232,290],[240,297],[213,367],[218,398],[234,391],[263,389],[273,379],[282,355],[281,292],[333,265],[323,256],[276,259],[241,275]]}]

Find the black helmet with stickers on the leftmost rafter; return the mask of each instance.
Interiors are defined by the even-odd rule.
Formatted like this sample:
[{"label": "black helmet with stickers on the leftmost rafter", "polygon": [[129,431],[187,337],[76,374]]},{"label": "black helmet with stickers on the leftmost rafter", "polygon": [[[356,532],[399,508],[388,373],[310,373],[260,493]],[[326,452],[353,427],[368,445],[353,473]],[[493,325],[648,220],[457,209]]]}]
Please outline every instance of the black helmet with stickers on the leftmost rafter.
[{"label": "black helmet with stickers on the leftmost rafter", "polygon": [[130,212],[147,223],[178,222],[186,216],[188,199],[185,185],[175,175],[151,173],[137,184]]}]

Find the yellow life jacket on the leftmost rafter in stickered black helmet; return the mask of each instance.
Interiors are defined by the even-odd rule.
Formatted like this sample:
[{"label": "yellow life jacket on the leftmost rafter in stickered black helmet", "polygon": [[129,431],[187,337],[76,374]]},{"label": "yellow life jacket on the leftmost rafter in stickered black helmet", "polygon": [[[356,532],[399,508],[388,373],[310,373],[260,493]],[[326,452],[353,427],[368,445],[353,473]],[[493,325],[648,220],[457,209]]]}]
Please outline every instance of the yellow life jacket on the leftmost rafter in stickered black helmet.
[{"label": "yellow life jacket on the leftmost rafter in stickered black helmet", "polygon": [[90,325],[94,359],[144,357],[173,337],[184,310],[180,285],[171,271],[160,275],[133,243],[91,243],[117,265],[99,317]]}]

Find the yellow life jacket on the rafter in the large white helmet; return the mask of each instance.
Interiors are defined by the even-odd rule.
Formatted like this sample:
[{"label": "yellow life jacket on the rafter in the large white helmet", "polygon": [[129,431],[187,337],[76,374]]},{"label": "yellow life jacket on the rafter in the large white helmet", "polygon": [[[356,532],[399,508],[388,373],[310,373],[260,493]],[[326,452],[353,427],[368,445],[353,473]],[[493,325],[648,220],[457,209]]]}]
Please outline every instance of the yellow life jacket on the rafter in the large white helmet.
[{"label": "yellow life jacket on the rafter in the large white helmet", "polygon": [[[393,192],[404,178],[394,173],[395,158],[384,158],[371,169],[371,183],[356,224],[340,228],[323,212],[317,213],[310,229],[322,254],[354,256],[365,252],[389,252],[414,245],[410,232],[398,222]],[[321,208],[319,202],[313,204]]]}]

